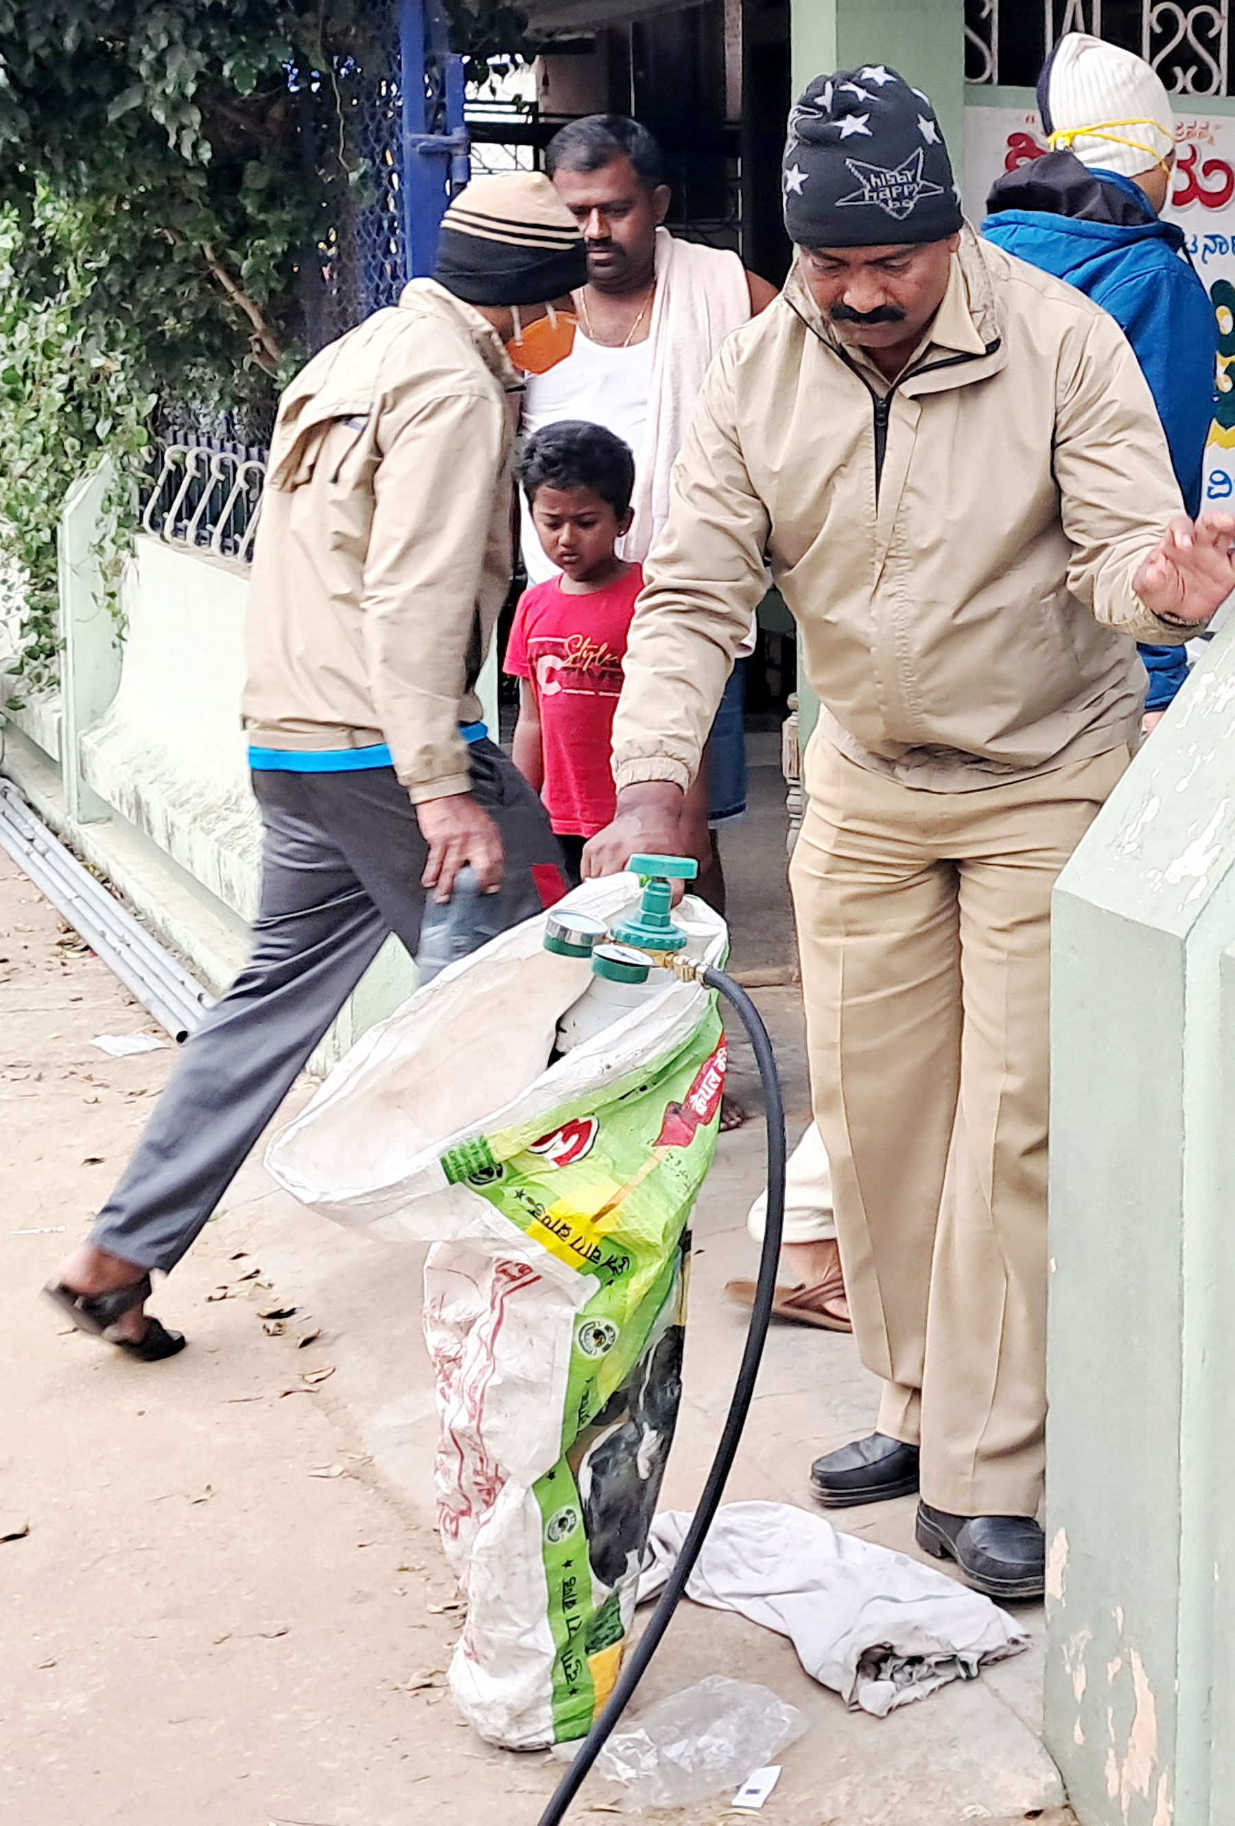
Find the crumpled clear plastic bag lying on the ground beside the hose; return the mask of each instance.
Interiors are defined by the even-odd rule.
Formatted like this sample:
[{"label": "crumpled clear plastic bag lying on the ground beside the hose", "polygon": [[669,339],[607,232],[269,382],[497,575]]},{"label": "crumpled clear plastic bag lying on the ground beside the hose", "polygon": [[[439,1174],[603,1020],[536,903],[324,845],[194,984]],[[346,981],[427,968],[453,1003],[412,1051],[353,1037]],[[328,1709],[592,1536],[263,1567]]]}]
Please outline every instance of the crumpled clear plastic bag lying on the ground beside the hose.
[{"label": "crumpled clear plastic bag lying on the ground beside the hose", "polygon": [[615,1731],[597,1773],[620,1786],[633,1813],[686,1808],[739,1788],[804,1731],[797,1707],[768,1687],[708,1674]]}]

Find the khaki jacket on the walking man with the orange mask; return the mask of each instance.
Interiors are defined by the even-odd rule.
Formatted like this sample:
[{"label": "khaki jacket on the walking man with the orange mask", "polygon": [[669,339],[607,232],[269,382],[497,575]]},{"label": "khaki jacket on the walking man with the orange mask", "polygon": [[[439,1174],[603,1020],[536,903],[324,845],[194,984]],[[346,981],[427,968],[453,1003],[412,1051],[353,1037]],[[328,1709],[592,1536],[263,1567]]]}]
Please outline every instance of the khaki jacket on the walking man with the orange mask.
[{"label": "khaki jacket on the walking man with the orange mask", "polygon": [[414,802],[467,792],[460,723],[511,584],[507,394],[489,323],[414,279],[283,394],[248,592],[250,743],[389,743]]}]

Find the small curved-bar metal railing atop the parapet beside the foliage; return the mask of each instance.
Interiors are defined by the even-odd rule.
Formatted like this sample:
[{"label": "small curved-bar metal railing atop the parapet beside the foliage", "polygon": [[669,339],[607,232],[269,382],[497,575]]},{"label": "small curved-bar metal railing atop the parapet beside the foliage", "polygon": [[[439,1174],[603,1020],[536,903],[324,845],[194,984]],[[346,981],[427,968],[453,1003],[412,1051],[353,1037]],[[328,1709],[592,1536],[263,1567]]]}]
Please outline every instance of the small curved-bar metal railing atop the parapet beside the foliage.
[{"label": "small curved-bar metal railing atop the parapet beside the foliage", "polygon": [[257,449],[162,444],[142,502],[142,531],[250,564],[265,477],[265,455]]}]

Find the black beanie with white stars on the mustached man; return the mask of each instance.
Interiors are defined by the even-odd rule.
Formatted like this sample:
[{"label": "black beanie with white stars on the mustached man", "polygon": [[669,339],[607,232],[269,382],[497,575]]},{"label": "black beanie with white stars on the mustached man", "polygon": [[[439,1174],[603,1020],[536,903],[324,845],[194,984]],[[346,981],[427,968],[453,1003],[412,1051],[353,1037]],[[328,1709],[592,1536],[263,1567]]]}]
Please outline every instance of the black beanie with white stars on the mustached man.
[{"label": "black beanie with white stars on the mustached man", "polygon": [[921,89],[883,64],[815,77],[790,113],[784,226],[797,247],[945,241],[963,223]]}]

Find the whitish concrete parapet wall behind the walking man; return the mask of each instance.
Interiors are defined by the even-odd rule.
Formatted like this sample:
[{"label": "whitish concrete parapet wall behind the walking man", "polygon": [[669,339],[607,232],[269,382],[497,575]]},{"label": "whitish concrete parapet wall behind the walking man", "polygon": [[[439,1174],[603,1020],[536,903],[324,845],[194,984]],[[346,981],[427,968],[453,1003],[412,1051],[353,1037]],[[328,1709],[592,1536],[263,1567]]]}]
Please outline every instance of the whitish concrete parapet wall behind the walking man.
[{"label": "whitish concrete parapet wall behind the walking man", "polygon": [[[190,453],[193,455],[193,453]],[[228,539],[246,555],[255,524],[241,500],[252,466],[223,488]],[[11,718],[5,772],[35,809],[100,869],[153,931],[217,993],[248,951],[261,891],[261,820],[241,732],[248,564],[201,544],[201,500],[164,475],[124,581],[122,646],[99,604],[93,564],[102,473],[82,478],[60,528],[62,688]],[[166,498],[164,498],[166,497]],[[202,500],[206,497],[201,497]],[[212,513],[219,502],[212,504]],[[190,511],[192,509],[192,511]],[[175,533],[179,520],[184,520]],[[217,531],[217,526],[215,526]],[[217,540],[215,540],[217,544]],[[487,668],[494,698],[496,670]],[[325,1070],[416,986],[390,939],[310,1066]]]}]

